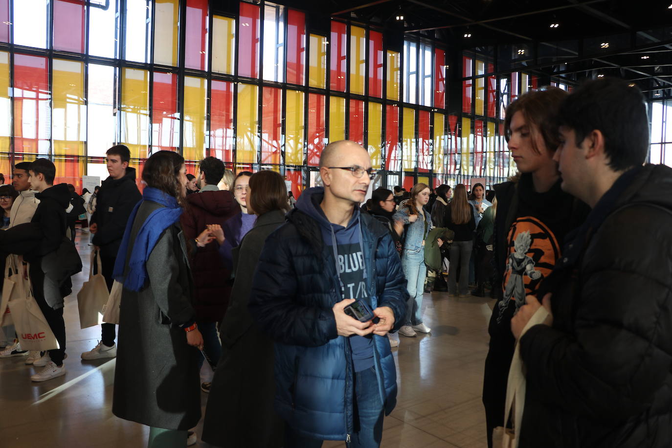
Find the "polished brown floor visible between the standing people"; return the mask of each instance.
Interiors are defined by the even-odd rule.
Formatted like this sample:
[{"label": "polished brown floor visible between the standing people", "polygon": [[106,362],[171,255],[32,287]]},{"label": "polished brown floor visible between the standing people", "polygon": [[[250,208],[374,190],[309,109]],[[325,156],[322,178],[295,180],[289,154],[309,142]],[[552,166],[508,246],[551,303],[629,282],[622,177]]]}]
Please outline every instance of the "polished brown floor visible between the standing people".
[{"label": "polished brown floor visible between the standing people", "polygon": [[[75,291],[89,272],[88,238],[84,232],[85,241],[77,245],[84,269],[73,279]],[[487,446],[480,395],[492,305],[489,299],[425,294],[431,334],[401,337],[401,346],[392,349],[399,392],[396,408],[384,421],[382,447]],[[112,415],[114,359],[79,359],[100,332],[99,327],[79,328],[75,295],[66,299],[65,320],[69,359],[64,377],[32,383],[34,369],[24,365],[24,357],[0,359],[0,447],[144,447],[148,429]],[[207,398],[202,394],[204,405]]]}]

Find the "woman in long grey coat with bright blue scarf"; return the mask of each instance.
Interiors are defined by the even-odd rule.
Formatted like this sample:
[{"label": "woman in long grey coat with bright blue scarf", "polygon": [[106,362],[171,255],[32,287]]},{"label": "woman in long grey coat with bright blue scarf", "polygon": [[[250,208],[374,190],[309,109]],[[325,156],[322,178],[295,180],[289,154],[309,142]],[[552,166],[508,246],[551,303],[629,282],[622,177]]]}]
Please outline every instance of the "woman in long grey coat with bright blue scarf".
[{"label": "woman in long grey coat with bright blue scarf", "polygon": [[112,412],[148,425],[149,447],[182,448],[201,416],[196,361],[203,346],[179,224],[184,159],[156,152],[144,163],[142,180],[142,200],[128,220],[114,266],[124,289]]}]

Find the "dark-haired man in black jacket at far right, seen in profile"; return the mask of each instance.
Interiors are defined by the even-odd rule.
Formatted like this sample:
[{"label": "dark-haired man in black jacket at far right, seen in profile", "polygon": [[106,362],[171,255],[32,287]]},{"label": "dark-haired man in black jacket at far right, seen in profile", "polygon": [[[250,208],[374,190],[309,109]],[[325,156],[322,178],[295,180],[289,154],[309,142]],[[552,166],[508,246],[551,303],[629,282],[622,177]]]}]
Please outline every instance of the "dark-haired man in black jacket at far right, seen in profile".
[{"label": "dark-haired man in black jacket at far right, seen in profile", "polygon": [[[511,321],[527,377],[518,446],[669,447],[672,169],[642,166],[646,101],[627,81],[581,85],[558,121],[562,189],[592,211]],[[520,337],[542,298],[552,319]]]}]

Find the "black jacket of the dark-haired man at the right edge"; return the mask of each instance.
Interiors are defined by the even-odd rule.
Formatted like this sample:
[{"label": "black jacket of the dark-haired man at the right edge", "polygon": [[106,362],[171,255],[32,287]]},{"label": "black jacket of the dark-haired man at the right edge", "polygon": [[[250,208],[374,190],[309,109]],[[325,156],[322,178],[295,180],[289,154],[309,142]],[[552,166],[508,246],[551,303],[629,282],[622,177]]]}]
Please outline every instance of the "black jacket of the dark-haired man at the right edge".
[{"label": "black jacket of the dark-haired man at the right edge", "polygon": [[672,169],[628,171],[544,281],[552,327],[520,339],[519,447],[670,447]]}]

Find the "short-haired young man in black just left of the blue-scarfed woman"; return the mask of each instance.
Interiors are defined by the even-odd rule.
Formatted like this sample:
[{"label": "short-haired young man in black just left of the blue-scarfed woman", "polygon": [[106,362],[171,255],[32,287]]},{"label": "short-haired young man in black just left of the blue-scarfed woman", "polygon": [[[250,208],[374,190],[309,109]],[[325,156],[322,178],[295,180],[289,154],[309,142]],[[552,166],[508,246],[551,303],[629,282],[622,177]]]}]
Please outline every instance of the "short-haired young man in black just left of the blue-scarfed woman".
[{"label": "short-haired young man in black just left of the blue-scarfed woman", "polygon": [[[112,290],[112,271],[119,246],[124,238],[126,222],[130,212],[142,199],[135,185],[135,169],[128,166],[130,150],[123,144],[108,149],[106,160],[110,177],[103,181],[96,197],[96,206],[89,231],[93,233],[93,246],[100,252],[103,277]],[[82,353],[87,361],[100,358],[114,358],[117,347],[114,343],[116,330],[114,324],[101,324],[101,341],[90,351]]]}]

